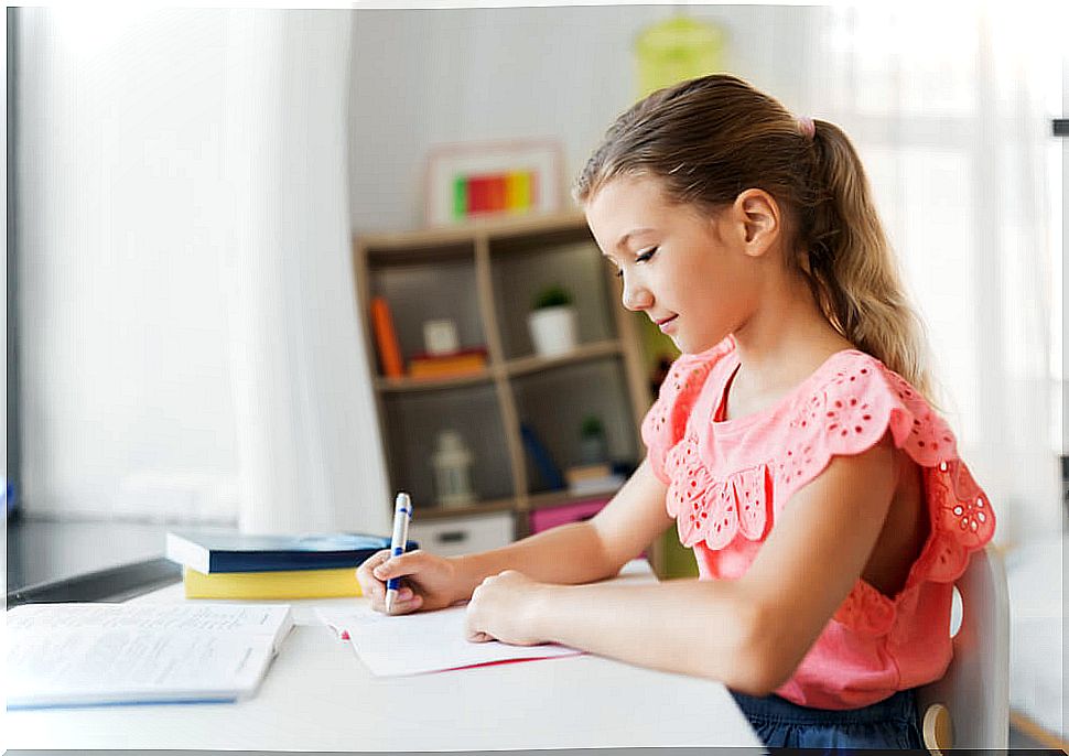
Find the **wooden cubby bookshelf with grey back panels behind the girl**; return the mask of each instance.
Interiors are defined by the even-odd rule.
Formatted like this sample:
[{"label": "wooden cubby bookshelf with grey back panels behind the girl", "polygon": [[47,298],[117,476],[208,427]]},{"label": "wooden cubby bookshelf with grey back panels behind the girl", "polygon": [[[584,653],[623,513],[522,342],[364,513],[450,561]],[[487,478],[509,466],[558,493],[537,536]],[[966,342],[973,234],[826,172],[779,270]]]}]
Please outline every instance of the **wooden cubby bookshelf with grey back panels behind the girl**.
[{"label": "wooden cubby bookshelf with grey back panels behind the girl", "polygon": [[[619,281],[582,214],[361,235],[354,238],[353,255],[361,332],[376,357],[372,387],[388,475],[393,488],[412,495],[413,539],[440,552],[449,551],[434,542],[442,533],[441,543],[455,542],[460,550],[493,548],[501,543],[465,540],[466,523],[496,519],[507,527],[495,530],[494,538],[507,542],[531,532],[531,515],[539,509],[590,510],[596,496],[548,485],[521,424],[561,471],[581,463],[580,426],[590,414],[602,420],[611,461],[641,460],[638,425],[652,397],[640,316],[620,306]],[[568,353],[541,356],[527,314],[534,295],[553,283],[572,293],[577,344]],[[463,376],[386,376],[370,317],[372,298],[389,305],[406,365],[424,352],[424,322],[444,318],[455,324],[462,348],[485,349],[485,367]],[[460,433],[474,455],[477,498],[471,504],[435,504],[430,460],[443,430]],[[429,529],[422,539],[420,527]]]}]

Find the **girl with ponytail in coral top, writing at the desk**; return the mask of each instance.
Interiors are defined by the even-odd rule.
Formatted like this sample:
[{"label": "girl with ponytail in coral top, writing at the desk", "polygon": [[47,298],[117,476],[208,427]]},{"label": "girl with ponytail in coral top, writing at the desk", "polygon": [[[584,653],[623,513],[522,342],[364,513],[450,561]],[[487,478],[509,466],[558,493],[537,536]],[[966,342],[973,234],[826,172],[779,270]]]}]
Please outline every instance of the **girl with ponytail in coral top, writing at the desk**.
[{"label": "girl with ponytail in coral top, writing at the desk", "polygon": [[[648,454],[592,520],[455,559],[382,552],[381,609],[471,600],[471,639],[559,642],[723,681],[769,746],[922,747],[913,689],[950,661],[951,585],[994,529],[927,397],[850,141],[745,82],[650,95],[580,176],[624,306],[683,353]],[[672,521],[698,580],[613,585]],[[593,583],[593,584],[591,584]]]}]

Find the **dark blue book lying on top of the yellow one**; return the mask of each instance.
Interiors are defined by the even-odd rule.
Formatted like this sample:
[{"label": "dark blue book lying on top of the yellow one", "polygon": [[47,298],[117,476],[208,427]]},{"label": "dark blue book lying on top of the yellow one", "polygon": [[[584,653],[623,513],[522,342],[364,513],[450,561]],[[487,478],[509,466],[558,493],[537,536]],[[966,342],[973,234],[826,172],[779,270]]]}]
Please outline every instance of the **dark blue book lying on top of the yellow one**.
[{"label": "dark blue book lying on top of the yellow one", "polygon": [[[166,558],[205,574],[331,570],[357,568],[389,548],[389,537],[366,533],[256,536],[204,528],[169,532]],[[404,550],[417,548],[415,541],[409,541]]]}]

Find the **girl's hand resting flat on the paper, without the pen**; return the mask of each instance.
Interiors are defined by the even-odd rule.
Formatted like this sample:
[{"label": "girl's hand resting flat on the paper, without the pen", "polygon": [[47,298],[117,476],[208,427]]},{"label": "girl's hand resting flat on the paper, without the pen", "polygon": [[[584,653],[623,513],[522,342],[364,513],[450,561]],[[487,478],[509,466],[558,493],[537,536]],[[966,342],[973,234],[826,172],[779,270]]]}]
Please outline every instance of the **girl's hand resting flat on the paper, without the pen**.
[{"label": "girl's hand resting flat on the paper, without the pen", "polygon": [[500,640],[512,646],[550,642],[539,635],[536,619],[542,598],[553,586],[506,570],[484,580],[467,605],[465,635],[474,642]]}]

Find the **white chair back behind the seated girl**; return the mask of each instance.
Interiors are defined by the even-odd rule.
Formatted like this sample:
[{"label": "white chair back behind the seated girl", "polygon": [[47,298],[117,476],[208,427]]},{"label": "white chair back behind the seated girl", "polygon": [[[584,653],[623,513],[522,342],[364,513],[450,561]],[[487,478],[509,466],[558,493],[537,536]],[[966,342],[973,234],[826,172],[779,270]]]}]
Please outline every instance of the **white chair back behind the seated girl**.
[{"label": "white chair back behind the seated girl", "polygon": [[1002,748],[1009,743],[1009,591],[994,547],[972,554],[955,583],[954,658],[941,680],[917,691],[925,746]]}]

